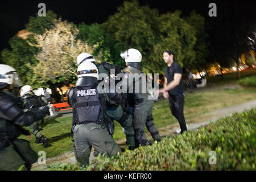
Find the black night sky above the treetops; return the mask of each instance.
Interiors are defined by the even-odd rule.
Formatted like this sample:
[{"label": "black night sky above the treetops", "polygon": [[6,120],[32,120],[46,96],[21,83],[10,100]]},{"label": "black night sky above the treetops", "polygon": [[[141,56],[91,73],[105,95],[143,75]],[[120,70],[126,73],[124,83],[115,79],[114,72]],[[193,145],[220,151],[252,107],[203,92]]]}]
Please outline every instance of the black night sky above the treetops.
[{"label": "black night sky above the treetops", "polygon": [[[69,22],[79,24],[85,22],[103,23],[109,15],[117,12],[117,7],[122,5],[123,1],[0,1],[0,51],[3,48],[9,48],[8,40],[14,36],[19,30],[24,29],[24,25],[28,22],[29,16],[35,16],[38,13],[38,4],[44,2],[47,10],[52,10],[63,19],[68,19]],[[209,20],[218,20],[218,13],[229,11],[230,18],[234,13],[240,13],[241,19],[256,19],[255,15],[255,1],[237,1],[239,12],[231,10],[234,1],[171,1],[171,0],[148,0],[139,1],[141,5],[149,5],[151,8],[159,10],[160,14],[167,11],[181,10],[183,15],[188,15],[192,10],[205,16]],[[217,4],[217,17],[210,18],[208,16],[209,3],[214,2]],[[256,20],[255,20],[256,22]],[[216,27],[217,28],[217,27]]]}]

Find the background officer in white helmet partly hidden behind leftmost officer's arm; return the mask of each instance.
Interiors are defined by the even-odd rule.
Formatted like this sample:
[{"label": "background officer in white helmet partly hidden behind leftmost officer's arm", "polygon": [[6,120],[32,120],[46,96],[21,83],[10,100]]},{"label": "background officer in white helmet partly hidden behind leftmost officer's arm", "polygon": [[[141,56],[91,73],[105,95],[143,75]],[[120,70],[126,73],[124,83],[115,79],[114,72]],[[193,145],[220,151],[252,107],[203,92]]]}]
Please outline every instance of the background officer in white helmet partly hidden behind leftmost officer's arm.
[{"label": "background officer in white helmet partly hidden behind leftmost officer's arm", "polygon": [[[20,96],[23,98],[23,109],[24,111],[33,110],[37,111],[41,106],[48,104],[44,97],[36,96],[30,85],[24,85],[20,89]],[[43,119],[42,119],[43,120]],[[48,147],[48,139],[40,133],[41,126],[39,121],[30,125],[31,133],[36,137],[35,143],[43,143],[44,147]]]}]

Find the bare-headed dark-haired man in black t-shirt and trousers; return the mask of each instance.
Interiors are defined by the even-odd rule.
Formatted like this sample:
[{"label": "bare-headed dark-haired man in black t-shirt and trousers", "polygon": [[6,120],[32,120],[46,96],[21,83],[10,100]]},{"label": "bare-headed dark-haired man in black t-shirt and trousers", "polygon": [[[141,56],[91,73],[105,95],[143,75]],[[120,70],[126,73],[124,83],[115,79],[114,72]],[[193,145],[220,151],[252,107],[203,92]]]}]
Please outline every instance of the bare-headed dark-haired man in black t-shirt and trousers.
[{"label": "bare-headed dark-haired man in black t-shirt and trousers", "polygon": [[159,89],[164,98],[169,98],[169,104],[172,115],[179,121],[181,134],[187,131],[184,118],[184,93],[182,85],[182,68],[174,61],[174,52],[164,51],[164,62],[167,64],[164,69],[164,88]]}]

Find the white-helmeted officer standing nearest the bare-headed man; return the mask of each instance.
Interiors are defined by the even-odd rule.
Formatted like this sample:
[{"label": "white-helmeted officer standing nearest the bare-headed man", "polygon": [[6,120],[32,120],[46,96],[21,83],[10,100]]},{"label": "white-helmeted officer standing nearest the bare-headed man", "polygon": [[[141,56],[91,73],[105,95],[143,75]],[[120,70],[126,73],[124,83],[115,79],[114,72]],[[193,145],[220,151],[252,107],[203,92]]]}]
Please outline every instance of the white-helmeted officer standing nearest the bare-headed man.
[{"label": "white-helmeted officer standing nearest the bare-headed man", "polygon": [[[139,52],[137,49],[130,48],[127,51],[122,52],[121,57],[122,59],[125,59],[127,67],[123,69],[123,73],[125,73],[128,78],[130,74],[138,73],[138,75],[141,75],[141,52]],[[143,77],[144,75],[141,76]],[[135,89],[135,82],[140,82],[142,77],[135,78],[135,80],[132,81],[128,79],[128,81],[133,84],[133,89]],[[131,85],[128,85],[128,87],[130,86]],[[137,146],[139,144],[141,144],[141,146],[146,146],[149,144],[149,142],[144,134],[145,125],[154,140],[160,141],[161,138],[152,118],[152,106],[154,104],[154,100],[148,99],[148,90],[146,93],[142,93],[142,84],[139,84],[139,86],[139,93],[135,93],[135,90],[133,90],[133,93],[131,94],[134,100],[133,125],[135,129],[135,142],[137,143]]]}]

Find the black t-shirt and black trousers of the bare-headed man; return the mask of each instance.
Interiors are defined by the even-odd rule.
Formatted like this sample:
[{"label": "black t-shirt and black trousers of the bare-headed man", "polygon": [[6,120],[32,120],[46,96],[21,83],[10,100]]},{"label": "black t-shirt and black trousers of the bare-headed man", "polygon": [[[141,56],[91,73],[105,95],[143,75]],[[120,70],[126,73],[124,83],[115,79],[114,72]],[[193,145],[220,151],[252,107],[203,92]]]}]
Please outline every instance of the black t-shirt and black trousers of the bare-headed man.
[{"label": "black t-shirt and black trousers of the bare-headed man", "polygon": [[[164,75],[167,78],[167,85],[174,80],[174,73],[180,73],[182,75],[182,68],[175,61],[170,67],[164,69]],[[180,84],[175,88],[168,91],[169,93],[169,104],[172,115],[179,121],[181,133],[187,131],[187,126],[184,118],[184,93],[183,93],[183,84],[182,78]]]}]

